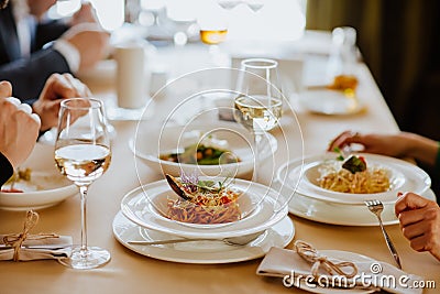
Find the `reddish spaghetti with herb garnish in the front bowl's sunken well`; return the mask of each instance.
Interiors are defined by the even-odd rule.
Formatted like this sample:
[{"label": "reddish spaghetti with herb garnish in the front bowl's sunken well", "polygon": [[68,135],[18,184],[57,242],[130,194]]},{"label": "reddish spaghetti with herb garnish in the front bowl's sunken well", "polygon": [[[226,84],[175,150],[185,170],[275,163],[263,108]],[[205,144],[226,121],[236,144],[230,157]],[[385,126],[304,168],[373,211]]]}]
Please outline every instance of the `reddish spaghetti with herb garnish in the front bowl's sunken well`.
[{"label": "reddish spaghetti with herb garnish in the front bowl's sunken well", "polygon": [[257,197],[235,187],[231,178],[213,181],[183,175],[176,182],[190,198],[184,199],[172,190],[152,195],[151,210],[158,217],[186,226],[212,228],[241,221],[260,210]]}]

